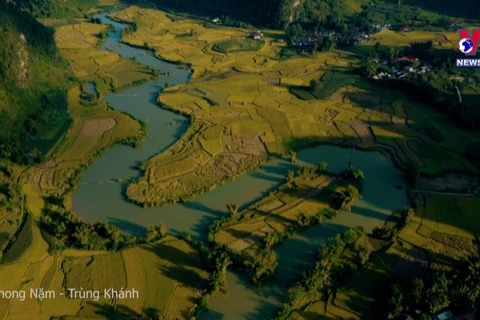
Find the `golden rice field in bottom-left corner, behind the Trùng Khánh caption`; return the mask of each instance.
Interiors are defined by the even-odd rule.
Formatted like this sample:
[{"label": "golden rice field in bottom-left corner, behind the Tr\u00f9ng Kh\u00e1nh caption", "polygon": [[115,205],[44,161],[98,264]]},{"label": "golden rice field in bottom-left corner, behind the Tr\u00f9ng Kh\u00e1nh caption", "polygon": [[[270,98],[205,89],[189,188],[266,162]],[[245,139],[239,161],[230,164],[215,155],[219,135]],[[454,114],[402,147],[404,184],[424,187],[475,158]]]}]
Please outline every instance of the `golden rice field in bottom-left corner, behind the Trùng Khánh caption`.
[{"label": "golden rice field in bottom-left corner, behind the Tr\u00f9ng Kh\u00e1nh caption", "polygon": [[[174,237],[115,253],[66,250],[52,256],[40,230],[34,231],[35,241],[21,259],[0,266],[2,290],[27,291],[24,301],[0,300],[2,319],[188,319],[208,277],[199,252]],[[55,292],[55,299],[31,298],[30,289],[40,287]],[[67,288],[99,290],[100,296],[75,298]],[[110,299],[105,288],[135,289],[139,296]]]}]

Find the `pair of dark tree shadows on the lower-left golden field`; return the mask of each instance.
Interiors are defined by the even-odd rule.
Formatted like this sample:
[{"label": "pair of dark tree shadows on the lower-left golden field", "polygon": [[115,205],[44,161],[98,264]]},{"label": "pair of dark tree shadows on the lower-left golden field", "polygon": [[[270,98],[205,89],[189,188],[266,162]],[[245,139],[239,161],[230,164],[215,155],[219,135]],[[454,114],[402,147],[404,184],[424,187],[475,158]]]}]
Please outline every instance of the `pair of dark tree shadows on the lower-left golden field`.
[{"label": "pair of dark tree shadows on the lower-left golden field", "polygon": [[158,268],[162,274],[182,286],[198,289],[199,284],[204,280],[191,269],[200,267],[199,258],[195,254],[189,254],[175,248],[169,242],[146,246],[145,249],[170,262],[172,265],[158,265]]}]

